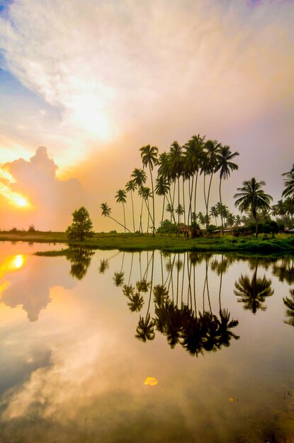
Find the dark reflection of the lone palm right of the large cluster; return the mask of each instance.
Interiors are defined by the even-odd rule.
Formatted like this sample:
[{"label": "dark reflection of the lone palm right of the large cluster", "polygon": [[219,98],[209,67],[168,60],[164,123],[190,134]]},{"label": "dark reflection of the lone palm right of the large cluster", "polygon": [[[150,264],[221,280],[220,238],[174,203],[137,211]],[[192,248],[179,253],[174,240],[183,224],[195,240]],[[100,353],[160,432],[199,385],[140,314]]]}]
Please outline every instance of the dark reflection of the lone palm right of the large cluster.
[{"label": "dark reflection of the lone palm right of the large cluster", "polygon": [[244,309],[248,309],[252,313],[256,313],[259,309],[265,311],[266,306],[264,306],[264,302],[266,297],[273,295],[271,280],[268,280],[265,275],[262,278],[257,277],[257,268],[258,260],[256,260],[251,280],[248,275],[241,275],[234,284],[236,287],[234,294],[240,297],[238,301],[244,303]]}]

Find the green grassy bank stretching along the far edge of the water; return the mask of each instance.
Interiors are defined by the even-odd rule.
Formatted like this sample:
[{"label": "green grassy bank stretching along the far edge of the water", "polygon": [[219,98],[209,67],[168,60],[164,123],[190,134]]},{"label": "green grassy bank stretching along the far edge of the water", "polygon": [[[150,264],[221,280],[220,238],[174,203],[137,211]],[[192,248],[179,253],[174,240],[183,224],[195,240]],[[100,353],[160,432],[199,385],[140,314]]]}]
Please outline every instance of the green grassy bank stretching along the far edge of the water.
[{"label": "green grassy bank stretching along the far edge of the water", "polygon": [[[18,233],[0,232],[0,241],[27,241],[30,243],[68,243],[64,232]],[[275,238],[264,238],[261,234],[255,237],[217,236],[213,238],[185,238],[157,234],[95,234],[91,240],[71,242],[69,246],[86,248],[118,249],[120,251],[211,251],[242,253],[290,253],[294,254],[294,236],[278,234]]]}]

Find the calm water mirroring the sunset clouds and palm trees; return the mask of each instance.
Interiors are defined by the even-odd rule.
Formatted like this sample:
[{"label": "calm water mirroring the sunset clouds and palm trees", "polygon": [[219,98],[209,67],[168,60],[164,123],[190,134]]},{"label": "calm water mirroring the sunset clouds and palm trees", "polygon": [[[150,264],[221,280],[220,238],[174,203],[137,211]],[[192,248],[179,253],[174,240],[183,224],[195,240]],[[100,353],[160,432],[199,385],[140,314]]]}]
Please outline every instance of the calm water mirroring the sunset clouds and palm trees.
[{"label": "calm water mirroring the sunset clouds and palm trees", "polygon": [[0,245],[0,442],[294,442],[294,258]]}]

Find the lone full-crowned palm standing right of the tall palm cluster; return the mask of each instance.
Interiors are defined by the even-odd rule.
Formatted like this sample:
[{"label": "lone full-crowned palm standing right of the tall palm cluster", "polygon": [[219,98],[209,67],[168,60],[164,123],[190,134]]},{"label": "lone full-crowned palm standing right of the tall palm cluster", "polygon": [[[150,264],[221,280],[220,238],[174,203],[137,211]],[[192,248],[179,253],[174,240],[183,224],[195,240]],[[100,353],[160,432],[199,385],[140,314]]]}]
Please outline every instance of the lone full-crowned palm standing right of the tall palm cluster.
[{"label": "lone full-crowned palm standing right of the tall palm cluster", "polygon": [[237,188],[237,194],[234,198],[237,200],[234,205],[239,208],[241,212],[249,211],[255,220],[255,235],[258,236],[257,231],[257,212],[258,209],[270,209],[270,202],[273,200],[271,195],[268,195],[261,189],[261,186],[265,185],[264,181],[256,181],[256,178],[251,178],[249,181],[244,181],[242,188]]}]

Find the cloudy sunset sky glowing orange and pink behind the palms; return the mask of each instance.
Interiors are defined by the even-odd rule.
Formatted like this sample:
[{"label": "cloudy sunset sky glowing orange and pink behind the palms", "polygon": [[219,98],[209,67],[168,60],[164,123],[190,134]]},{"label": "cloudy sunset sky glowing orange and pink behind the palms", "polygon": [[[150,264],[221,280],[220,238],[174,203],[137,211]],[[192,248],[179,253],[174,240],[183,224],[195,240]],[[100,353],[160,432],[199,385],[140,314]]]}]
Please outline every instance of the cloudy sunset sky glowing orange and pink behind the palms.
[{"label": "cloudy sunset sky glowing orange and pink behind the palms", "polygon": [[140,147],[194,134],[239,152],[231,210],[252,177],[276,202],[294,163],[293,23],[291,0],[0,0],[0,229],[64,230],[81,205],[119,229],[99,207],[123,221],[115,192]]}]

